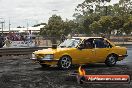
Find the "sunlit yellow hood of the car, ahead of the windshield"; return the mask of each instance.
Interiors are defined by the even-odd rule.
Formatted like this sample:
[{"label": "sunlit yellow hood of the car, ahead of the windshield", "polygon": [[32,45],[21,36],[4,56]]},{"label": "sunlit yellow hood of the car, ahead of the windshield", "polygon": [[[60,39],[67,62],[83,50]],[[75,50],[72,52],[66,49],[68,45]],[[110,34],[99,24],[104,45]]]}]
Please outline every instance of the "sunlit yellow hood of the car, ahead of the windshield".
[{"label": "sunlit yellow hood of the car, ahead of the windshield", "polygon": [[65,50],[71,50],[71,48],[57,48],[57,49],[43,49],[33,52],[34,54],[54,54],[56,52],[65,51]]}]

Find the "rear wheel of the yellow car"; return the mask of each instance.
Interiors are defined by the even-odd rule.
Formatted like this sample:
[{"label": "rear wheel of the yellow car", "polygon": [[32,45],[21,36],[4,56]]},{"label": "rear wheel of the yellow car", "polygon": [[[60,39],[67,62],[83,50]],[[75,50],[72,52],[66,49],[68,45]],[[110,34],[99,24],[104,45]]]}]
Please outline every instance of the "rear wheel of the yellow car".
[{"label": "rear wheel of the yellow car", "polygon": [[115,66],[117,62],[118,57],[114,54],[109,55],[106,60],[105,64],[109,67]]}]

